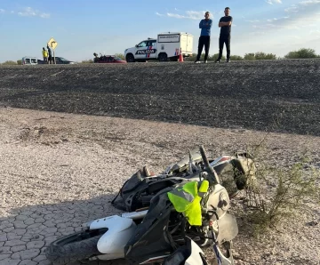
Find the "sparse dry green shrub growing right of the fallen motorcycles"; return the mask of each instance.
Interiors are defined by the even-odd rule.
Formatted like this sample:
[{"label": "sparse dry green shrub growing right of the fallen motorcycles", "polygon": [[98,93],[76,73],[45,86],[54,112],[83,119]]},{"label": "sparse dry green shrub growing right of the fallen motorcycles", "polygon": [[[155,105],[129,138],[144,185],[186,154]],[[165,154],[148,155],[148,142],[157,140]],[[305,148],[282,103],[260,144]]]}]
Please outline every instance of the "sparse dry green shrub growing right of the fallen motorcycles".
[{"label": "sparse dry green shrub growing right of the fallen motorcycles", "polygon": [[[263,149],[261,142],[252,152]],[[319,204],[320,171],[309,162],[307,151],[300,155],[299,162],[286,168],[268,165],[268,161],[259,162],[256,179],[245,189],[244,199],[247,209],[244,220],[252,226],[254,236],[292,221],[306,201]]]}]

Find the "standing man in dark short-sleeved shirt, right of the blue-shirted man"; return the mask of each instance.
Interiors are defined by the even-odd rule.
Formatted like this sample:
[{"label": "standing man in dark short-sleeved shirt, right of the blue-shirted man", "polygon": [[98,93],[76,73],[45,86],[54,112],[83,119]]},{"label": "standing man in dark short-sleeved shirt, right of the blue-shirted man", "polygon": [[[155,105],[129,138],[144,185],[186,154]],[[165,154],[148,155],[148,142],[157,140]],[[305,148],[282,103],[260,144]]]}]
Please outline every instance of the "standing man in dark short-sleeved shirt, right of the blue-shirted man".
[{"label": "standing man in dark short-sleeved shirt, right of the blue-shirted man", "polygon": [[231,24],[232,17],[229,16],[230,8],[225,8],[225,16],[220,18],[220,38],[219,38],[219,58],[215,62],[220,62],[223,52],[223,45],[226,44],[227,49],[227,62],[230,62],[230,40],[231,40]]}]

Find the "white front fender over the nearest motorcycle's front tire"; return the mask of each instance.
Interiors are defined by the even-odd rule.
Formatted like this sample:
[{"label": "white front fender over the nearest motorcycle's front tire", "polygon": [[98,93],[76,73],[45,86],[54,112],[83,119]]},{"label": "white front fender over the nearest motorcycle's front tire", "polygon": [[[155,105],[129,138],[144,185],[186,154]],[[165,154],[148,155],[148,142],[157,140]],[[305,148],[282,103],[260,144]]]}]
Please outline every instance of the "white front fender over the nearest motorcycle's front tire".
[{"label": "white front fender over the nearest motorcycle's front tire", "polygon": [[104,253],[104,260],[124,258],[124,246],[132,237],[136,224],[132,219],[113,215],[93,221],[90,229],[108,228],[108,231],[100,237],[98,250]]}]

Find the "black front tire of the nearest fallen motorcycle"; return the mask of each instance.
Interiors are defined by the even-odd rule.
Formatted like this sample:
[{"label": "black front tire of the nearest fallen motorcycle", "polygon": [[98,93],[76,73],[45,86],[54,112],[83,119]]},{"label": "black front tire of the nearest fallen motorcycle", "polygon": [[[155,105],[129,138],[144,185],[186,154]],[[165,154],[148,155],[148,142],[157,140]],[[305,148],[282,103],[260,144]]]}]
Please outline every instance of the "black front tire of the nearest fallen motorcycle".
[{"label": "black front tire of the nearest fallen motorcycle", "polygon": [[53,241],[45,250],[47,259],[52,261],[53,264],[67,264],[69,262],[86,261],[90,257],[100,254],[97,244],[103,233],[79,240],[85,233],[85,231],[81,231]]}]

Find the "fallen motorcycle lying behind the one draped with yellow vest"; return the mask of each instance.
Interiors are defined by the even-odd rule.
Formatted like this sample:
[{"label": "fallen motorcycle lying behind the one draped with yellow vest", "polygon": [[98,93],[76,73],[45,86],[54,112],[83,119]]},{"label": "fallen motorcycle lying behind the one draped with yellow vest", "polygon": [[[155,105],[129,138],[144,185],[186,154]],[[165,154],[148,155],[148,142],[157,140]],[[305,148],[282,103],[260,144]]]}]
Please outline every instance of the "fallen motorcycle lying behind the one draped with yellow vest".
[{"label": "fallen motorcycle lying behind the one draped with yellow vest", "polygon": [[[236,152],[233,156],[209,159],[209,163],[218,174],[221,185],[227,189],[229,197],[235,197],[255,180],[256,167],[252,155],[248,152]],[[204,166],[199,149],[189,150],[188,157],[167,166],[160,174],[152,173],[144,166],[124,182],[111,204],[126,212],[148,207],[151,199],[160,190],[184,181],[201,180]]]}]

